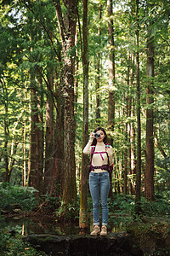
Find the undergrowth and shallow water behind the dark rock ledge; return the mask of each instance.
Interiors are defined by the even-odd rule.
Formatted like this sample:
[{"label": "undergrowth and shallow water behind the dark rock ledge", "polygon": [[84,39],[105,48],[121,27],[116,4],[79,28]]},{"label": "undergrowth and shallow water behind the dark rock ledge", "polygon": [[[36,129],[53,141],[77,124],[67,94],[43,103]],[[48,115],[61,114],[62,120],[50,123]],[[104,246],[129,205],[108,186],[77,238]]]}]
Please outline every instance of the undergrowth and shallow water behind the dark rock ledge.
[{"label": "undergrowth and shallow water behind the dark rock ledge", "polygon": [[[48,201],[43,200],[37,203],[32,192],[28,193],[28,190],[25,191],[8,184],[3,185],[0,192],[2,194],[0,230],[4,247],[8,245],[9,237],[12,234],[88,236],[92,230],[93,217],[90,197],[88,198],[87,213],[88,229],[82,232],[79,229],[79,205],[77,202],[70,205],[69,208],[66,208],[59,198],[48,198]],[[109,199],[108,207],[109,236],[123,232],[125,236],[139,241],[144,252],[156,250],[161,253],[153,255],[170,255],[170,201],[167,198],[159,197],[153,202],[145,201],[142,198],[140,215],[135,214],[132,195],[116,195],[113,199]]]}]

